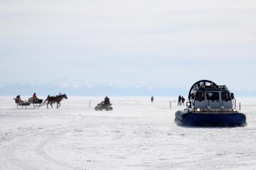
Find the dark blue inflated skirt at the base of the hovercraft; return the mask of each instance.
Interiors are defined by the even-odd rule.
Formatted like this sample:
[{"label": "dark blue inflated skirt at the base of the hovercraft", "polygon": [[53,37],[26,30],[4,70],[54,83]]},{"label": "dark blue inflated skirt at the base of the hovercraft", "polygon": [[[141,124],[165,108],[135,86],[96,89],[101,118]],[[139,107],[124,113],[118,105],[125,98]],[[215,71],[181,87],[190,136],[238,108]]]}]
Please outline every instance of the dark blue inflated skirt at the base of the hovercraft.
[{"label": "dark blue inflated skirt at the base of the hovercraft", "polygon": [[207,113],[177,111],[175,123],[180,126],[246,126],[246,116],[242,113]]}]

